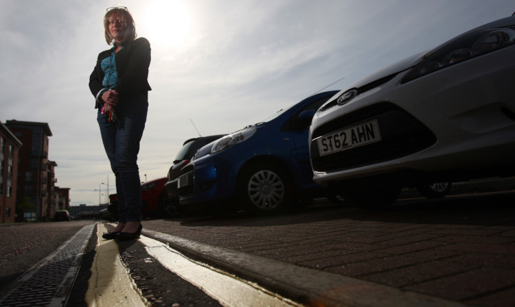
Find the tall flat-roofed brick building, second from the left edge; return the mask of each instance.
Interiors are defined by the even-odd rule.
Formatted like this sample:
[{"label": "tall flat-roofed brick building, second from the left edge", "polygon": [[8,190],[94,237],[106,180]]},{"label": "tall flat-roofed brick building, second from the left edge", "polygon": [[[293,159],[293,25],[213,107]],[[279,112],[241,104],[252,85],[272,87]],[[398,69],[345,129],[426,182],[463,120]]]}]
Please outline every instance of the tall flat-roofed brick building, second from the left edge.
[{"label": "tall flat-roofed brick building, second from the left edge", "polygon": [[[57,164],[48,160],[48,138],[52,131],[47,123],[11,120],[5,125],[23,143],[19,151],[16,204],[24,206],[16,221],[45,221],[53,217],[56,208],[52,195]],[[27,201],[32,206],[25,206]]]}]

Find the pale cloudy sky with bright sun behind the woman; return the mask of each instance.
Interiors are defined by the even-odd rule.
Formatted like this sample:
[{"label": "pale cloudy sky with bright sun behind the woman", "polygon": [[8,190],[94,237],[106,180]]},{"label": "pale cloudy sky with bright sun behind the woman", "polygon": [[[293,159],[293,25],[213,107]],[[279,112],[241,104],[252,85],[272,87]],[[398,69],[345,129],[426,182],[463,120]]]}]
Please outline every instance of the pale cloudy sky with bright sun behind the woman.
[{"label": "pale cloudy sky with bright sun behind the woman", "polygon": [[142,181],[165,177],[188,138],[235,132],[515,11],[513,0],[0,0],[0,121],[49,124],[71,205],[115,193],[88,82],[110,48],[106,8],[119,5],[152,48]]}]

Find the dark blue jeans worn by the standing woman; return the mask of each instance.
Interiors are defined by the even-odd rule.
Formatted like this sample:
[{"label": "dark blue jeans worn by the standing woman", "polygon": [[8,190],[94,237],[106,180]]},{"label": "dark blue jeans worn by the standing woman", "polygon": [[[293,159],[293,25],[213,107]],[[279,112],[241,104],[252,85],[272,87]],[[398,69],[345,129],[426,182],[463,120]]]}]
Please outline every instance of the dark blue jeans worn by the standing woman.
[{"label": "dark blue jeans worn by the standing woman", "polygon": [[102,115],[101,109],[98,110],[97,121],[107,158],[115,173],[119,223],[141,221],[141,180],[137,155],[147,119],[147,95],[119,101],[115,110],[117,123],[106,121],[108,114]]}]

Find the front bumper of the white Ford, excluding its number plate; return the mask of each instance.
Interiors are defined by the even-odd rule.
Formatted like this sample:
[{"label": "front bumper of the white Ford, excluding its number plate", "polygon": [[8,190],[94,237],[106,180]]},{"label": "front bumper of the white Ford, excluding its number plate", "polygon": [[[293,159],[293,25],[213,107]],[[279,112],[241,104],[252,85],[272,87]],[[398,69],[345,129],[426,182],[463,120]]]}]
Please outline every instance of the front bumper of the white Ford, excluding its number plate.
[{"label": "front bumper of the white Ford, excluding its number plate", "polygon": [[[328,186],[393,173],[455,173],[466,180],[505,166],[513,171],[514,52],[507,47],[401,84],[404,71],[343,106],[317,112],[310,130],[314,182]],[[317,138],[370,119],[378,119],[380,142],[320,156]]]}]

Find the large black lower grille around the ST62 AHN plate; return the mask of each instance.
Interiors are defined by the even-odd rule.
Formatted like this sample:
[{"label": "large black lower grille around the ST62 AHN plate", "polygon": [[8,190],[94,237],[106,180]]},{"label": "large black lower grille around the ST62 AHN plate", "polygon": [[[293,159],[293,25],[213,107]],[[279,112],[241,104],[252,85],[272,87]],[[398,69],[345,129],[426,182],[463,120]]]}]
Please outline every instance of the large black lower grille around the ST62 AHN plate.
[{"label": "large black lower grille around the ST62 AHN plate", "polygon": [[[325,156],[316,138],[330,132],[378,119],[382,140]],[[311,160],[315,172],[330,173],[407,156],[435,144],[436,137],[408,112],[389,102],[356,110],[317,127],[312,134]]]}]

